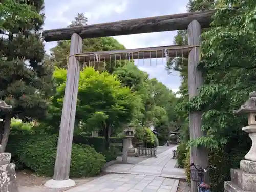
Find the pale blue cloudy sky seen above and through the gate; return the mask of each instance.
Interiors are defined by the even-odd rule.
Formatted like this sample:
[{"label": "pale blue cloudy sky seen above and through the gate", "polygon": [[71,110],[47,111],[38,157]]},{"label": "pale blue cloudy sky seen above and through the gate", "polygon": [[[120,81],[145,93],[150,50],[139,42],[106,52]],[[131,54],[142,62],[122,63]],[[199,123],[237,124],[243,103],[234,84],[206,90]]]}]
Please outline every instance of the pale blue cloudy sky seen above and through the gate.
[{"label": "pale blue cloudy sky seen above and through the gate", "polygon": [[[96,3],[97,2],[97,3]],[[77,13],[88,18],[88,24],[114,22],[116,20],[135,19],[186,12],[187,0],[45,0],[44,29],[66,27]],[[172,45],[176,31],[115,36],[127,49]],[[47,42],[46,50],[54,47],[56,42]],[[165,59],[139,60],[138,67],[157,78],[176,92],[180,86],[179,73],[168,74]]]}]

